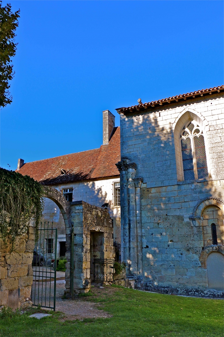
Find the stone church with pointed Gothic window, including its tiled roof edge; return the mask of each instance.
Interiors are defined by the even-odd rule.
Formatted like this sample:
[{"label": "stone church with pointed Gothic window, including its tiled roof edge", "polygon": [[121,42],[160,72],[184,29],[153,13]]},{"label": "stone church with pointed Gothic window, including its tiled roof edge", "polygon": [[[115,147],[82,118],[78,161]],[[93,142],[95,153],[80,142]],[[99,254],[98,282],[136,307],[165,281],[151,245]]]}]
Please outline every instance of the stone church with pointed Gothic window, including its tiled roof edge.
[{"label": "stone church with pointed Gothic window, including its tiled roof edge", "polygon": [[223,291],[224,86],[116,110],[128,273],[145,290]]}]

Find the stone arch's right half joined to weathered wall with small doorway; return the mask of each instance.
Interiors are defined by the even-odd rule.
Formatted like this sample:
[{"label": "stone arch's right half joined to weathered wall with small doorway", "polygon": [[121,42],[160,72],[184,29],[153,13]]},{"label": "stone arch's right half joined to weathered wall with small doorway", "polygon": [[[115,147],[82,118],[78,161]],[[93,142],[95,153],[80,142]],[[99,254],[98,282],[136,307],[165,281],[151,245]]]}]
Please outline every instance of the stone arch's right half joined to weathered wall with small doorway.
[{"label": "stone arch's right half joined to weathered wall with small doorway", "polygon": [[[91,233],[98,233],[101,238],[101,244],[97,245],[100,257],[104,259],[115,257],[113,223],[108,209],[93,206],[83,201],[68,202],[58,190],[49,186],[45,187],[44,196],[51,199],[59,207],[65,223],[67,259],[65,293],[71,294],[72,284],[74,285],[74,292],[88,292],[92,281],[90,277]],[[74,233],[73,250],[71,249],[72,231]],[[74,251],[73,256],[71,256],[71,251]],[[73,258],[74,270],[71,270],[71,258]]]}]

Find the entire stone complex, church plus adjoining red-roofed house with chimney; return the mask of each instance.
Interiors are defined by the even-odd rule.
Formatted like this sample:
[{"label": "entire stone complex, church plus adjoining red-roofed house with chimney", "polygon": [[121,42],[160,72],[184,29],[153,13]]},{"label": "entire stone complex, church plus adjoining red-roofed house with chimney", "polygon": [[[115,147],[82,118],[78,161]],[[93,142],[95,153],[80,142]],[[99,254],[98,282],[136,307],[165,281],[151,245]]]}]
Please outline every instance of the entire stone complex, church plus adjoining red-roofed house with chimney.
[{"label": "entire stone complex, church plus adjoining red-roofed house with chimney", "polygon": [[[99,149],[25,164],[19,159],[18,172],[69,202],[108,203],[116,258],[126,262],[136,288],[221,297],[224,86],[139,101],[116,109],[120,128],[103,112]],[[43,221],[57,226],[63,255],[63,218],[50,199]]]}]

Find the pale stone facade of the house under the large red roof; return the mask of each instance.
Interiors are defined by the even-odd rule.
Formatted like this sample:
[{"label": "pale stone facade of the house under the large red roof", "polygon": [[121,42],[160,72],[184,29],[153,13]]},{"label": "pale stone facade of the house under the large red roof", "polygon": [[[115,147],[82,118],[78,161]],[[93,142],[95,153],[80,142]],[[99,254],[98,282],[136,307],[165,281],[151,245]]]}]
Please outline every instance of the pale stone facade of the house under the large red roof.
[{"label": "pale stone facade of the house under the large red roof", "polygon": [[[114,224],[114,242],[120,250],[121,244],[121,215],[120,206],[115,206],[114,184],[120,182],[120,177],[110,177],[95,181],[80,181],[52,186],[61,193],[65,188],[73,188],[73,201],[84,201],[93,206],[101,207],[108,203],[108,211]],[[45,198],[42,222],[53,221],[54,228],[58,229],[57,256],[60,254],[60,241],[65,241],[65,225],[58,206],[50,199]]]}]

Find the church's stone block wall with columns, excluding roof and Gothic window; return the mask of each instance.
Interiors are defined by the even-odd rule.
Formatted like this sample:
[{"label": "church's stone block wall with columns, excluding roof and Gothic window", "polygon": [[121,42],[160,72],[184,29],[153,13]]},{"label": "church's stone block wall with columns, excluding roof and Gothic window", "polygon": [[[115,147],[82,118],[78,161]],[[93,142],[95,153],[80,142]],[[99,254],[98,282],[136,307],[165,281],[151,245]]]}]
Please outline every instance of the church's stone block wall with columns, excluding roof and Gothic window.
[{"label": "church's stone block wall with columns, excluding roof and Gothic window", "polygon": [[[138,114],[120,114],[122,257],[128,272],[139,275],[138,285],[145,289],[197,295],[213,292],[208,290],[207,269],[201,266],[200,255],[211,245],[211,224],[205,221],[210,205],[219,209],[210,219],[217,220],[218,244],[224,239],[223,97],[219,93]],[[192,119],[203,127],[209,178],[183,181],[175,130],[182,130],[182,123]],[[141,221],[137,177],[143,180]]]}]

